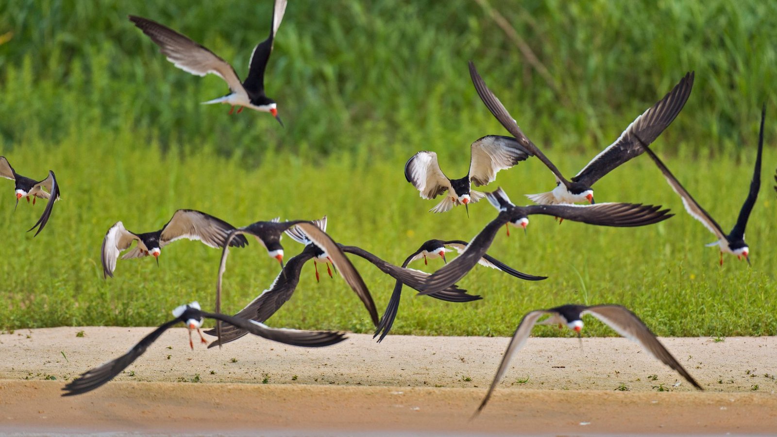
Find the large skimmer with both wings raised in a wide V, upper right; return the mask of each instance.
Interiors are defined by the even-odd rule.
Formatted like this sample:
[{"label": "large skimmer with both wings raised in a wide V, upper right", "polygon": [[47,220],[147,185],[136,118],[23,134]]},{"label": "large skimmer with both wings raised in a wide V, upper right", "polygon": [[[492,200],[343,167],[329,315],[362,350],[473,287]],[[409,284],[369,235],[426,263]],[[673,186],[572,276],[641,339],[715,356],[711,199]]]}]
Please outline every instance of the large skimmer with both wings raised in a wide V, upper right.
[{"label": "large skimmer with both wings raised in a wide V, upper right", "polygon": [[517,138],[517,142],[519,142],[524,149],[530,151],[532,155],[537,156],[537,158],[556,176],[556,188],[554,188],[553,191],[527,195],[531,201],[535,201],[535,203],[541,205],[577,203],[582,201],[594,203],[594,189],[592,188],[594,183],[616,167],[642,153],[642,148],[636,141],[636,135],[639,135],[639,137],[648,144],[658,138],[658,135],[674,121],[674,117],[677,117],[680,110],[685,106],[685,101],[688,100],[688,96],[691,95],[694,78],[693,72],[686,74],[663,99],[648,108],[643,114],[639,115],[639,117],[636,117],[615,142],[601,151],[597,156],[594,156],[594,159],[591,159],[591,162],[588,163],[583,170],[580,170],[575,177],[571,180],[567,180],[563,177],[559,169],[556,168],[556,165],[554,165],[550,159],[548,159],[537,146],[524,135],[521,128],[516,124],[515,119],[510,116],[507,109],[505,109],[503,104],[497,99],[497,96],[493,95],[491,90],[486,86],[486,82],[483,82],[483,78],[478,74],[472,61],[469,61],[469,75],[472,76],[472,83],[475,84],[475,89],[477,90],[480,99],[483,100],[483,103],[486,103],[486,107],[491,111],[491,114],[493,114],[494,117],[497,117],[497,120],[502,126],[507,129],[511,135]]}]

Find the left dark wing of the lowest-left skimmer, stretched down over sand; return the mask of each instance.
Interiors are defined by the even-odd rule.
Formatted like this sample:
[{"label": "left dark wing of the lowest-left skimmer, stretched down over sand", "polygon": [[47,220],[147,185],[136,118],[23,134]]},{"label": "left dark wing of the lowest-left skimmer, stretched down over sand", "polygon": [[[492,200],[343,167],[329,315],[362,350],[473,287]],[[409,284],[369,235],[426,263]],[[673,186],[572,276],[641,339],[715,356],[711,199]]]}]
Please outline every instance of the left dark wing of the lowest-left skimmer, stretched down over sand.
[{"label": "left dark wing of the lowest-left skimmer, stretched down over sand", "polygon": [[68,385],[62,388],[62,390],[66,392],[63,393],[62,396],[73,396],[75,394],[86,393],[107,383],[121,373],[122,370],[127,369],[127,365],[131,365],[139,356],[143,355],[146,349],[148,349],[148,346],[151,346],[162,333],[172,327],[172,325],[178,323],[178,321],[178,319],[173,319],[166,322],[161,327],[153,330],[151,334],[143,337],[143,339],[127,351],[126,354],[94,369],[87,370],[77,379],[73,379]]}]

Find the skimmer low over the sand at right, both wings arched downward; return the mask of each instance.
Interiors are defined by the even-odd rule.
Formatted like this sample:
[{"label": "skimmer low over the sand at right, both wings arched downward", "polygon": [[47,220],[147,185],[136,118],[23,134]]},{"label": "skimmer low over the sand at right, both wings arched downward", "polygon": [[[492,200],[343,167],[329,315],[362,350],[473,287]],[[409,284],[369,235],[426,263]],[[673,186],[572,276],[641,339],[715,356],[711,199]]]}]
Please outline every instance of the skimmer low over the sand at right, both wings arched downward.
[{"label": "skimmer low over the sand at right, both wings arched downward", "polygon": [[[623,337],[628,338],[631,341],[638,343],[642,348],[647,351],[653,358],[660,360],[665,365],[668,365],[675,371],[677,371],[688,383],[691,383],[699,390],[702,386],[699,385],[693,379],[693,377],[686,371],[683,366],[675,359],[667,348],[664,348],[664,344],[658,341],[657,337],[650,328],[646,327],[645,323],[632,313],[625,306],[620,305],[563,305],[556,306],[551,309],[536,309],[526,313],[521,319],[521,323],[518,323],[518,327],[513,334],[513,338],[510,340],[510,344],[507,345],[507,351],[504,352],[502,362],[497,370],[497,375],[493,378],[493,383],[486,393],[486,397],[483,398],[483,402],[480,403],[480,407],[475,414],[478,414],[483,407],[486,406],[493,390],[497,387],[504,373],[507,372],[507,365],[510,364],[510,358],[521,350],[526,344],[529,334],[531,334],[531,328],[535,324],[552,325],[558,323],[560,327],[566,325],[571,330],[577,332],[578,337],[580,331],[583,330],[583,320],[581,317],[590,314],[596,317],[602,323],[605,323],[608,327],[611,327],[615,332],[621,334]],[[549,315],[545,320],[540,321],[542,316]]]}]

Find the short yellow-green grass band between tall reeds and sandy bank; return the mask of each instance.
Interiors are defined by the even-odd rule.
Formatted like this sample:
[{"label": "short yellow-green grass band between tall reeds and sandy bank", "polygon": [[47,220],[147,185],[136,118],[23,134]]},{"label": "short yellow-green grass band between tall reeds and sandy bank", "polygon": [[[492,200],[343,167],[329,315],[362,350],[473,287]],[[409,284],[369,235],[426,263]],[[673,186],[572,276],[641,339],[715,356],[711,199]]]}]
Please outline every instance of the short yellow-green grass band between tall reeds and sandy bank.
[{"label": "short yellow-green grass band between tall reeds and sandy bank", "polygon": [[[256,170],[245,170],[239,159],[226,159],[208,149],[181,158],[162,154],[157,145],[131,147],[138,144],[137,137],[127,129],[113,138],[89,142],[73,139],[56,146],[28,142],[24,150],[12,154],[12,163],[30,175],[57,167],[63,200],[57,203],[47,229],[34,239],[24,231],[40,214],[41,205],[23,202],[13,212],[9,193],[0,204],[6,224],[2,230],[5,261],[0,265],[5,302],[0,307],[2,327],[154,325],[182,302],[197,299],[204,308],[212,308],[219,253],[197,242],[167,246],[160,267],[150,259],[119,260],[116,278],[104,281],[99,246],[106,229],[119,219],[127,229],[145,232],[158,229],[177,208],[201,209],[235,225],[277,215],[319,218],[326,214],[335,239],[399,264],[425,239],[470,239],[496,215],[486,201],[470,208],[469,219],[462,208],[442,215],[427,212],[435,202],[418,198],[406,183],[401,170],[404,157],[368,163],[364,156],[343,155],[313,165],[290,154],[268,152]],[[655,147],[666,155],[666,142],[658,141]],[[765,154],[767,172],[773,156],[770,145]],[[577,169],[588,159],[554,158],[561,169]],[[752,159],[669,156],[666,161],[728,229],[747,191]],[[152,164],[134,164],[144,160]],[[451,173],[464,171],[455,163],[444,165]],[[316,182],[311,175],[318,178]],[[528,235],[500,235],[490,253],[521,271],[549,275],[548,280],[520,281],[477,268],[460,285],[483,295],[482,301],[440,302],[414,298],[408,291],[392,332],[506,335],[529,309],[566,302],[618,302],[661,335],[775,334],[777,257],[771,248],[777,237],[772,225],[777,201],[768,176],[747,228],[753,267],[733,257],[726,257],[719,267],[718,251],[703,246],[712,240],[711,234],[685,214],[653,163],[640,157],[597,184],[598,201],[661,204],[677,216],[637,229],[558,225],[549,217],[532,217]],[[354,186],[362,178],[364,184]],[[497,184],[521,202],[521,194],[549,189],[552,178],[538,160],[531,159],[500,173]],[[454,227],[462,232],[451,232]],[[291,239],[284,243],[287,256],[301,249]],[[362,260],[354,263],[382,309],[393,282]],[[431,261],[428,270],[437,267],[440,260]],[[277,271],[275,261],[256,243],[233,250],[225,275],[224,309],[240,309],[270,285]],[[356,332],[372,329],[361,302],[344,282],[325,275],[316,284],[312,265],[303,270],[294,298],[270,323]],[[566,333],[541,328],[536,334]],[[587,334],[611,331],[592,321]]]}]

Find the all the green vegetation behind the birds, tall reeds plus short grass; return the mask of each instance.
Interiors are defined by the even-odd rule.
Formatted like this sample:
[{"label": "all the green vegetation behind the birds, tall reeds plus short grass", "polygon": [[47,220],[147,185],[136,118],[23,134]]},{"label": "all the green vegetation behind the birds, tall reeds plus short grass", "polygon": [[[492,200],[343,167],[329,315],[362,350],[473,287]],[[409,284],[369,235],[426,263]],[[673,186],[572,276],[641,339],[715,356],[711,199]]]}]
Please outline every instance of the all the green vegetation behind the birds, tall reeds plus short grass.
[{"label": "all the green vegetation behind the birds, tall reeds plus short grass", "polygon": [[[458,177],[470,142],[505,134],[472,88],[472,59],[521,128],[570,175],[695,70],[685,109],[655,149],[724,229],[747,192],[766,101],[764,187],[747,229],[753,267],[733,257],[718,267],[718,251],[703,246],[713,237],[685,214],[653,163],[635,159],[598,182],[597,200],[662,204],[676,217],[642,229],[532,218],[527,236],[500,236],[490,253],[548,280],[476,269],[461,285],[485,299],[471,304],[406,290],[392,333],[507,335],[529,309],[618,302],[661,335],[777,334],[777,2],[292,0],[267,70],[267,93],[286,128],[268,114],[201,106],[226,92],[224,82],[175,68],[127,20],[165,23],[244,77],[251,49],[269,32],[271,7],[0,3],[0,154],[29,177],[54,170],[63,197],[33,239],[24,231],[43,206],[23,202],[14,212],[11,183],[0,182],[0,327],[153,325],[182,302],[212,306],[218,250],[197,242],[167,246],[159,268],[120,260],[116,278],[102,278],[99,246],[110,225],[159,229],[178,208],[234,225],[326,214],[335,239],[396,264],[426,239],[471,238],[494,210],[481,202],[469,219],[460,209],[433,215],[427,209],[437,201],[418,198],[402,165],[420,149],[435,150]],[[552,179],[529,159],[484,191],[497,185],[523,203],[522,194],[548,191]],[[284,244],[287,256],[300,249]],[[393,282],[354,262],[382,309]],[[276,274],[256,243],[233,250],[225,310],[241,308]],[[343,281],[316,284],[312,266],[270,324],[371,331]],[[598,323],[586,332],[612,334]]]}]

